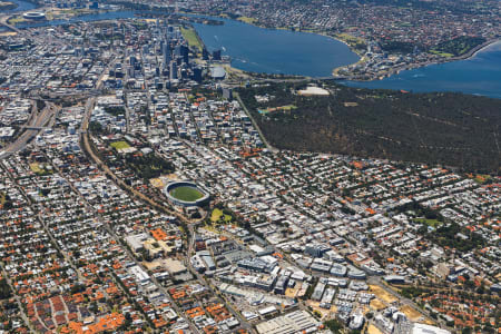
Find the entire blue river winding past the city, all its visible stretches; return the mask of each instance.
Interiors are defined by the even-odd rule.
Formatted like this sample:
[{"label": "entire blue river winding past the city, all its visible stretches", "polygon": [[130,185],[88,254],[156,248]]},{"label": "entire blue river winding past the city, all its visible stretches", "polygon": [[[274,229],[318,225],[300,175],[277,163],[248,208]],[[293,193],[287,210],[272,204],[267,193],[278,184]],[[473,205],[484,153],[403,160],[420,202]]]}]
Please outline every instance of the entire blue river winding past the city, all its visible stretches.
[{"label": "entire blue river winding past the city, all its visible stretches", "polygon": [[[24,10],[35,4],[16,0]],[[19,10],[19,7],[18,9]],[[42,22],[20,23],[18,28],[59,26],[76,21],[132,18],[130,10],[102,12]],[[266,73],[327,77],[332,69],[357,61],[358,56],[335,39],[306,32],[258,28],[223,20],[223,26],[195,23],[209,50],[222,49],[235,68]],[[501,41],[477,52],[470,59],[430,65],[402,71],[383,80],[342,81],[352,87],[423,91],[461,91],[501,98]]]}]

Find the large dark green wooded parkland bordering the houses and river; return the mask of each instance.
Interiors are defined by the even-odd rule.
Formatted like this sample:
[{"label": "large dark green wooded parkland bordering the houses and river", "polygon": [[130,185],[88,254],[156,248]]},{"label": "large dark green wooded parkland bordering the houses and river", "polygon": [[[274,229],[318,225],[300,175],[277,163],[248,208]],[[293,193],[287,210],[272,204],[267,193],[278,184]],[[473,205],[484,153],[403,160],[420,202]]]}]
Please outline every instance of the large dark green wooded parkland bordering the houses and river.
[{"label": "large dark green wooded parkland bordering the houses and river", "polygon": [[[328,97],[295,94],[305,86],[271,84],[239,90],[262,131],[277,148],[501,173],[499,99],[358,89],[332,82],[324,87],[332,92]],[[255,96],[266,94],[275,97],[256,101]],[[286,108],[276,108],[283,106]]]}]

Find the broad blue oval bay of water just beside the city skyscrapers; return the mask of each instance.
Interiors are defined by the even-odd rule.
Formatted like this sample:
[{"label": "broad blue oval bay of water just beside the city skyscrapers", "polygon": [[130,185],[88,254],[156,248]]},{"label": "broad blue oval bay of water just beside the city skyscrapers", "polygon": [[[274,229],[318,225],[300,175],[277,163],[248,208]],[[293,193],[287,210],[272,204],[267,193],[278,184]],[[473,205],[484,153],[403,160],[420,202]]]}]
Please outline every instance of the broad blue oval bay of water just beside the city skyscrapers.
[{"label": "broad blue oval bay of water just beside the city skyscrapers", "polygon": [[232,66],[245,71],[328,77],[358,60],[343,42],[306,32],[258,28],[220,19],[223,26],[194,23],[209,51],[222,49]]}]

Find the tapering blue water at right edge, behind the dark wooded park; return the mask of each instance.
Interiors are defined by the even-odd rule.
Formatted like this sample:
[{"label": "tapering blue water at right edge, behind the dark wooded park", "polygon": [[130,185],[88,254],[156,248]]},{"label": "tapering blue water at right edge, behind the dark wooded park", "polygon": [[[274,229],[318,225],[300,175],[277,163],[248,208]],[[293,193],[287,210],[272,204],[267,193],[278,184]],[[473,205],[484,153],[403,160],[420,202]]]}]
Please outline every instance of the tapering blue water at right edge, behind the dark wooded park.
[{"label": "tapering blue water at right edge, behind the dark wooded park", "polygon": [[345,81],[351,87],[404,89],[409,91],[461,91],[501,98],[501,41],[473,58],[430,65],[377,81]]}]

